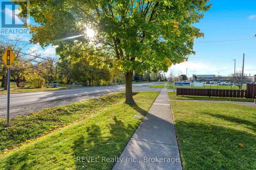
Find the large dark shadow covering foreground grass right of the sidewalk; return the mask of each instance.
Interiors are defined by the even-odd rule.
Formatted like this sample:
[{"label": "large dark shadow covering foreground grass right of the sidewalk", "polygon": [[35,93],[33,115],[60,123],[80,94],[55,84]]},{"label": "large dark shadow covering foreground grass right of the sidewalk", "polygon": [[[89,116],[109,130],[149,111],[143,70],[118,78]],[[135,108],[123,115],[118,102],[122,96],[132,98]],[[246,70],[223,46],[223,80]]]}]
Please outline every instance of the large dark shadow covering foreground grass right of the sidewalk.
[{"label": "large dark shadow covering foreground grass right of the sidewalk", "polygon": [[255,168],[253,133],[180,120],[176,120],[175,126],[185,169]]}]

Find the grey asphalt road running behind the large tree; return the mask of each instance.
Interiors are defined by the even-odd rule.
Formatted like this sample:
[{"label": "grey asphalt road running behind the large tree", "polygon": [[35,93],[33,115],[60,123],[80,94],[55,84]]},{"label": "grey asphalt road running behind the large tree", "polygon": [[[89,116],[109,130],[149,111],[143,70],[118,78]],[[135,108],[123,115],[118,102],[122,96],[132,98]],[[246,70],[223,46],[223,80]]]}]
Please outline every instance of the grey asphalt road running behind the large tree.
[{"label": "grey asphalt road running behind the large tree", "polygon": [[[160,91],[158,88],[148,88],[148,85],[159,84],[142,83],[133,84],[133,91]],[[67,90],[30,92],[10,94],[10,116],[29,114],[43,108],[68,105],[74,102],[97,98],[99,96],[124,91],[124,85],[81,87]],[[6,115],[7,95],[0,95],[0,118]]]}]

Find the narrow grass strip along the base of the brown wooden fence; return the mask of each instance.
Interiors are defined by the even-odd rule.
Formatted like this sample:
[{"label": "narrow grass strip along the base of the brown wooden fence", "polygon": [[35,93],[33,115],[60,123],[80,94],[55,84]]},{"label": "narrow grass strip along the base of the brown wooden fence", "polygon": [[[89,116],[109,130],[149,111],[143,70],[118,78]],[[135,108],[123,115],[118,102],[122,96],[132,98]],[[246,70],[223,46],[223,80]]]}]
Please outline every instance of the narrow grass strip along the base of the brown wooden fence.
[{"label": "narrow grass strip along the base of the brown wooden fence", "polygon": [[193,96],[193,95],[176,95],[176,92],[168,92],[170,99],[183,99],[183,100],[208,100],[208,101],[237,101],[237,102],[254,102],[254,99],[245,98],[218,98],[208,96]]}]

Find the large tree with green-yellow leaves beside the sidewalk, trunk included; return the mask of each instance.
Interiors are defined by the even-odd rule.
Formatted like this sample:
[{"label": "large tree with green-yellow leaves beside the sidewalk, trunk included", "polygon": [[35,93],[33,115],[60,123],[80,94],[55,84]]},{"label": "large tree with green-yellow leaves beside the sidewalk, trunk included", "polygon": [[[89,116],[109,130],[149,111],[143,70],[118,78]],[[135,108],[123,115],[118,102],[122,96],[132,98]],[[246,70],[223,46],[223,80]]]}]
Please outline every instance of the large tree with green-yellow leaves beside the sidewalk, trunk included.
[{"label": "large tree with green-yellow leaves beside the sidewalk, trunk included", "polygon": [[30,15],[40,23],[30,26],[32,42],[58,45],[58,54],[77,47],[91,64],[124,72],[125,102],[133,104],[133,71],[166,71],[194,53],[203,34],[193,24],[209,9],[207,1],[30,0]]}]

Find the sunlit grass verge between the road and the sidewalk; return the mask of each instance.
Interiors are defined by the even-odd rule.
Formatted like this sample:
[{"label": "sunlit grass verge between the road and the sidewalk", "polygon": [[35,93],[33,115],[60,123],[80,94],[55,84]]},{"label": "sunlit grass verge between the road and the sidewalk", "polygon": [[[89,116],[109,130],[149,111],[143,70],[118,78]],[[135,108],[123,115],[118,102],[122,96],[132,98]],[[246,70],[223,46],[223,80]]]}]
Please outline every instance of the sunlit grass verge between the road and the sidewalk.
[{"label": "sunlit grass verge between the road and the sidewalk", "polygon": [[[38,133],[57,129],[15,150],[3,152],[0,169],[111,169],[114,162],[101,162],[101,159],[121,154],[158,94],[135,94],[135,106],[123,104],[124,93],[110,94],[65,107],[45,109],[17,118],[16,122],[11,119],[10,129],[2,128],[2,134],[7,135],[5,141],[11,140],[12,135],[26,136],[36,131],[37,135],[31,137],[34,138]],[[73,119],[77,121],[73,122]],[[29,124],[30,120],[33,123]],[[16,125],[18,122],[19,125]],[[70,125],[59,128],[67,124]],[[16,140],[15,137],[12,140]],[[9,143],[5,142],[4,145]],[[100,162],[77,161],[81,157],[89,159],[90,156]]]}]

